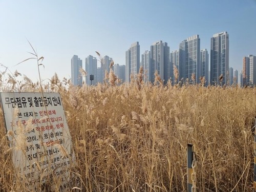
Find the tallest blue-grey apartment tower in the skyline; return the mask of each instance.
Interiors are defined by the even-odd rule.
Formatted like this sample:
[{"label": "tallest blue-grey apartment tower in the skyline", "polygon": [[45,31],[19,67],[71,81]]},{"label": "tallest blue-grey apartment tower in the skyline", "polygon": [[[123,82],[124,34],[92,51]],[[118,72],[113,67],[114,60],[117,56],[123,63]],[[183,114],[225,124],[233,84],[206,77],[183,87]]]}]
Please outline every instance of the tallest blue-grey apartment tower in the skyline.
[{"label": "tallest blue-grey apartment tower in the skyline", "polygon": [[[210,83],[226,84],[229,76],[229,38],[226,31],[210,39]],[[223,76],[223,78],[220,78]]]}]

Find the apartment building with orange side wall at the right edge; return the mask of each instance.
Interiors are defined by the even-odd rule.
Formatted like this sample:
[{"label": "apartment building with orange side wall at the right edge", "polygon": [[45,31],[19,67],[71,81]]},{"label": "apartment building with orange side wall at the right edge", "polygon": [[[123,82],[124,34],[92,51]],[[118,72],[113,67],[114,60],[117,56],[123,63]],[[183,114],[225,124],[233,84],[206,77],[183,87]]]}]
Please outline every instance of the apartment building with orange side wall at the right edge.
[{"label": "apartment building with orange side wall at the right edge", "polygon": [[256,85],[256,56],[248,55],[243,58],[243,86]]}]

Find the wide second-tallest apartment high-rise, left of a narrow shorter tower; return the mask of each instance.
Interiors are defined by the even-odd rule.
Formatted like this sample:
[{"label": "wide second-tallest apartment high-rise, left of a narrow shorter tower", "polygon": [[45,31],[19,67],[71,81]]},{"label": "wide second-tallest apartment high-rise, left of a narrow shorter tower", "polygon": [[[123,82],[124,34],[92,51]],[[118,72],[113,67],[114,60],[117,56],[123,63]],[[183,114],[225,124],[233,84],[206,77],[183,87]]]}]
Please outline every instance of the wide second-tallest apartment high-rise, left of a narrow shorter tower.
[{"label": "wide second-tallest apartment high-rise, left of a narrow shorter tower", "polygon": [[185,82],[195,75],[195,82],[200,82],[200,38],[194,35],[183,40],[179,46],[179,78]]}]

